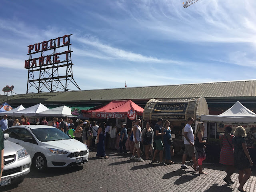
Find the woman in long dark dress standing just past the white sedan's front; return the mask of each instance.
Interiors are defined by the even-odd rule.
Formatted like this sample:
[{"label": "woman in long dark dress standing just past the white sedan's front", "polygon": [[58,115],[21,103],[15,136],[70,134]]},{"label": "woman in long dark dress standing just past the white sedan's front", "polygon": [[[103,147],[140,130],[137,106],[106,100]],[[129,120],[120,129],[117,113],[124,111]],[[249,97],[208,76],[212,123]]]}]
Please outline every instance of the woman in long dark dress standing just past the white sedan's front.
[{"label": "woman in long dark dress standing just past the white sedan's front", "polygon": [[106,127],[106,123],[102,122],[100,124],[100,127],[98,128],[97,154],[96,154],[97,158],[100,158],[100,157],[104,157],[105,159],[108,158],[108,156],[106,156],[106,153],[105,153],[105,144],[104,144],[104,140],[105,140],[105,127]]}]

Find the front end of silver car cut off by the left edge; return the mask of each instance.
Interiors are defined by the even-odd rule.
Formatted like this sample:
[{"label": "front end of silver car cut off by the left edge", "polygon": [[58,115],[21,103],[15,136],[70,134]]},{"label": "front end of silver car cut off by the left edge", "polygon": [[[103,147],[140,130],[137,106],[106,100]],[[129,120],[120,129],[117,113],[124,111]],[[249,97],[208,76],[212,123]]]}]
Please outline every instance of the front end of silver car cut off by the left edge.
[{"label": "front end of silver car cut off by the left edge", "polygon": [[0,187],[8,184],[20,184],[30,172],[31,158],[26,149],[7,139],[4,134],[4,170]]}]

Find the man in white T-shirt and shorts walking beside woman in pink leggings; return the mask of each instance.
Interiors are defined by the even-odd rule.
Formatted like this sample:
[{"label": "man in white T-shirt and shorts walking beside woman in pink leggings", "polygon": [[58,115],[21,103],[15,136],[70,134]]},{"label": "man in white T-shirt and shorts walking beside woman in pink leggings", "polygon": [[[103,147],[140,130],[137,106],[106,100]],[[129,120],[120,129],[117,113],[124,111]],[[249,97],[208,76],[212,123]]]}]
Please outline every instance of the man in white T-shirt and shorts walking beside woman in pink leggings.
[{"label": "man in white T-shirt and shorts walking beside woman in pink leggings", "polygon": [[192,160],[194,163],[196,163],[196,154],[195,154],[195,146],[194,146],[194,140],[196,139],[194,136],[193,129],[191,125],[194,123],[194,119],[192,117],[188,118],[188,123],[186,124],[184,128],[184,144],[185,144],[185,150],[184,154],[182,156],[182,166],[181,168],[187,168],[185,166],[185,161],[187,158],[187,155],[192,157]]}]

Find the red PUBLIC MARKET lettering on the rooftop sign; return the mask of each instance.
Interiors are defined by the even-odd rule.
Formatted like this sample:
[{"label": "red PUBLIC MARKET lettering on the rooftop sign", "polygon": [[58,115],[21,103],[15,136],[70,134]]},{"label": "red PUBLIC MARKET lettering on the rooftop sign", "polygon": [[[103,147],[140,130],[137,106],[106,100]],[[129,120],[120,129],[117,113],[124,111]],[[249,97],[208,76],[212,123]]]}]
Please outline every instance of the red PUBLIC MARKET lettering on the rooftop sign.
[{"label": "red PUBLIC MARKET lettering on the rooftop sign", "polygon": [[[56,39],[51,39],[48,41],[43,41],[40,43],[32,44],[28,46],[28,55],[30,55],[29,60],[25,60],[24,68],[34,68],[50,64],[58,64],[62,62],[68,62],[69,54],[71,50],[66,50],[63,52],[57,52],[61,50],[62,47],[70,45],[70,35],[64,35]],[[43,52],[48,50],[54,50],[53,53],[44,55]],[[38,58],[32,58],[32,54],[41,53]],[[50,52],[49,52],[50,53]]]}]

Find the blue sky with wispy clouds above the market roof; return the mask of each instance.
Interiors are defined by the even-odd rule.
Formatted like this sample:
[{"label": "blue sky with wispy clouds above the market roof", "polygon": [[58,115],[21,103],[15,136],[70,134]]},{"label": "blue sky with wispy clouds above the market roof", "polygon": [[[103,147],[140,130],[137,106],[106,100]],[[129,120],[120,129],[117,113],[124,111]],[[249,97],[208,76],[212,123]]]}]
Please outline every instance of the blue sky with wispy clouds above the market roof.
[{"label": "blue sky with wispy clouds above the market roof", "polygon": [[256,1],[182,2],[2,0],[1,86],[26,93],[27,46],[66,34],[81,90],[255,79]]}]

